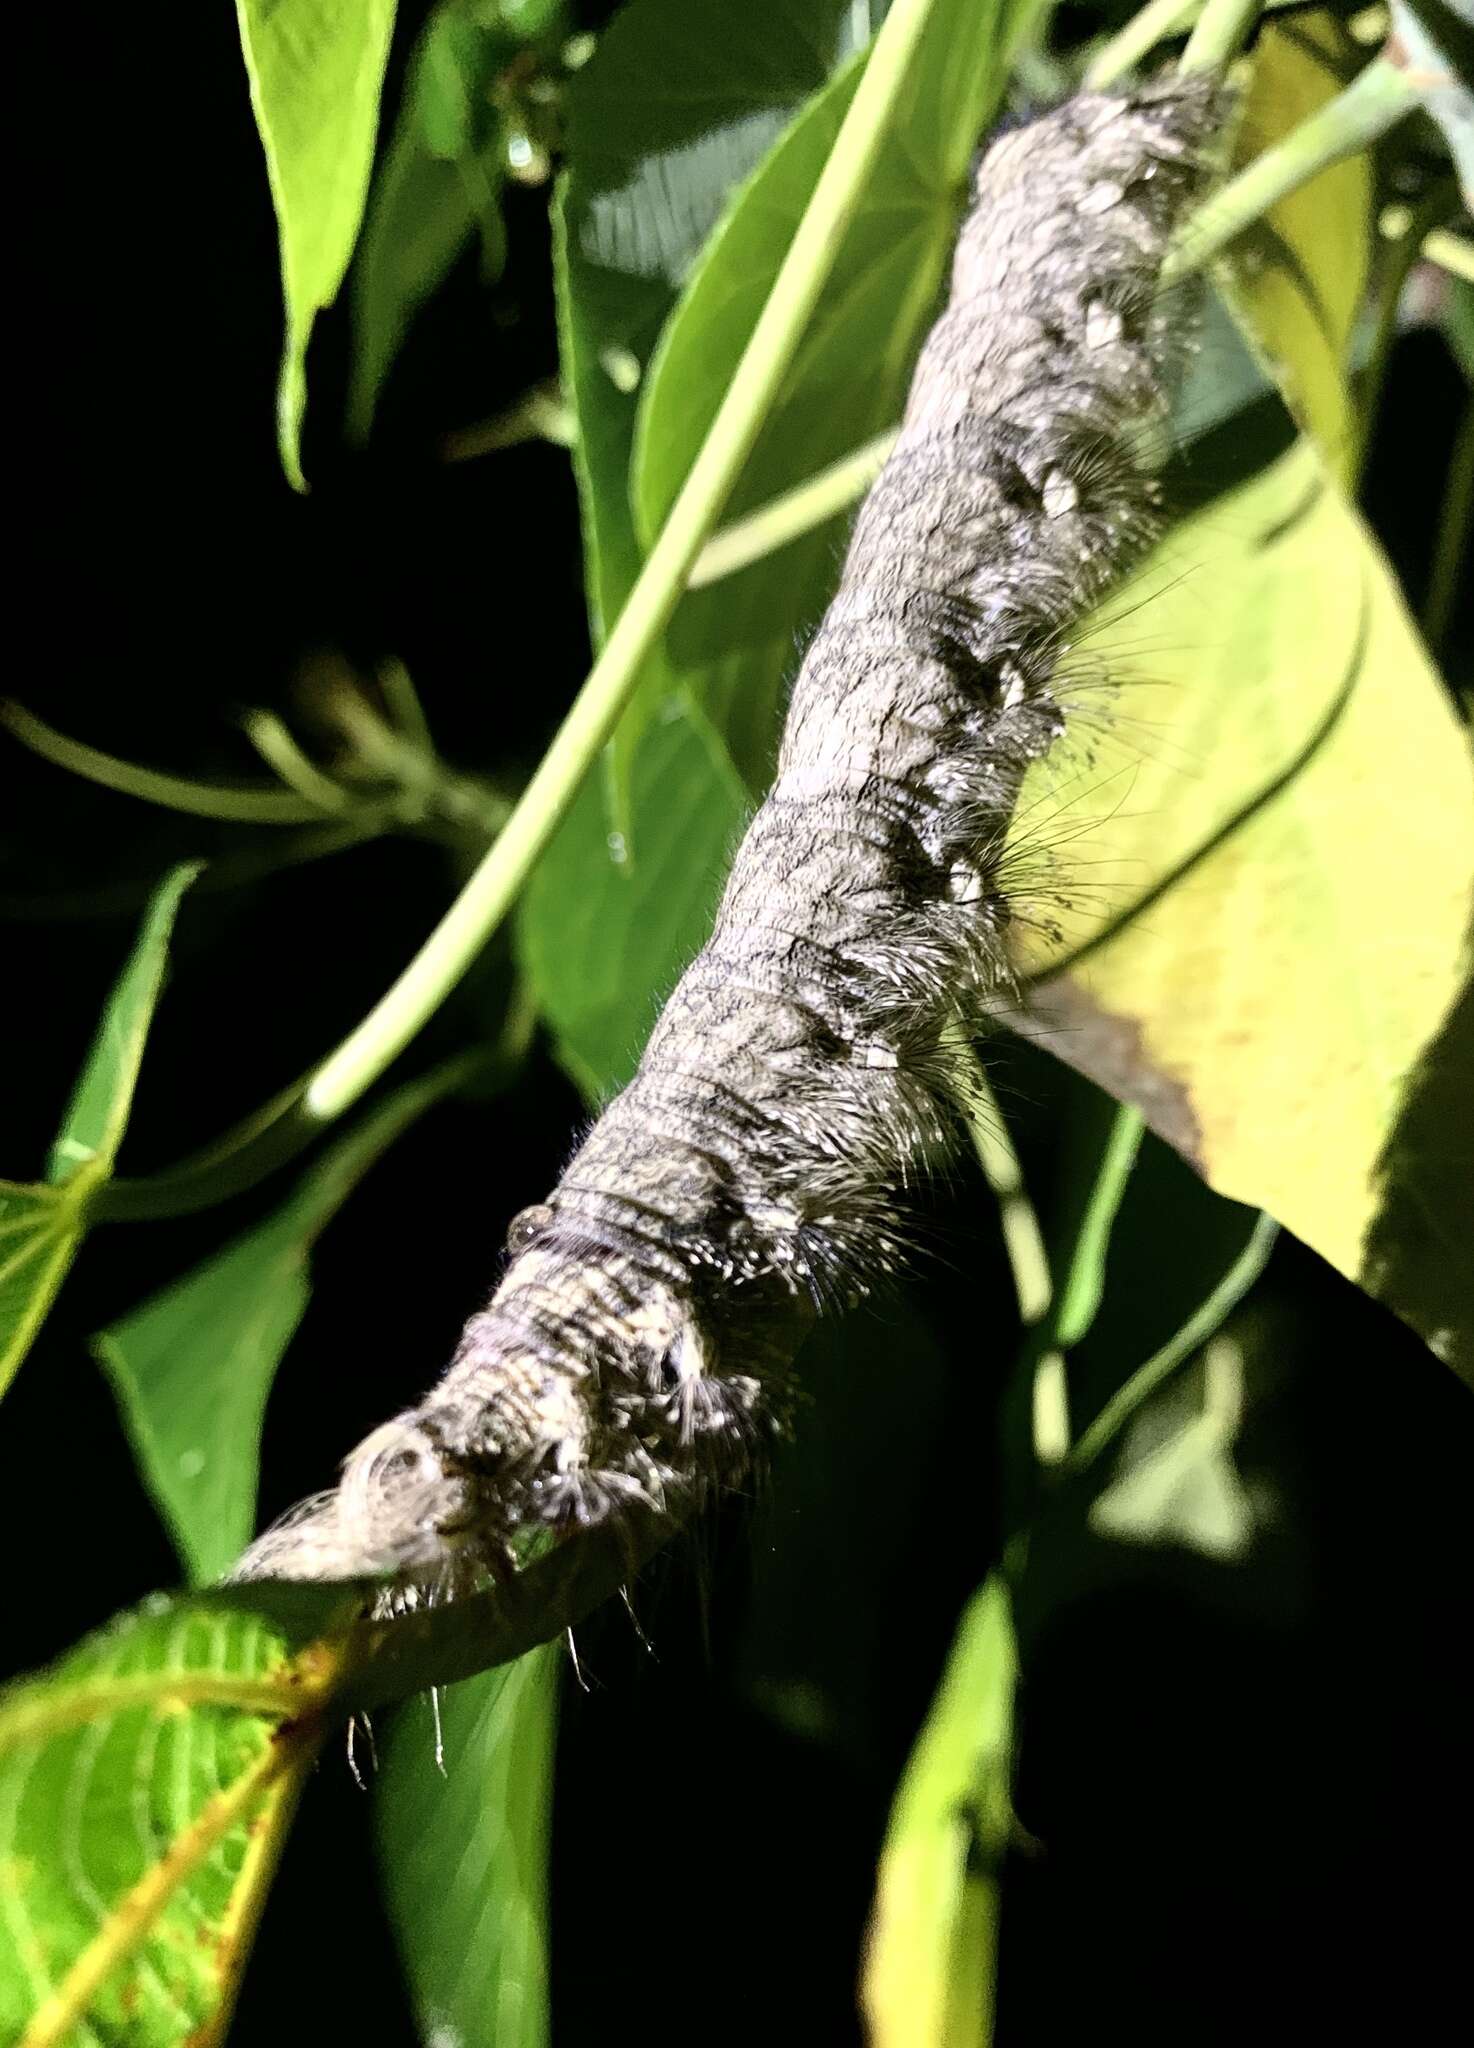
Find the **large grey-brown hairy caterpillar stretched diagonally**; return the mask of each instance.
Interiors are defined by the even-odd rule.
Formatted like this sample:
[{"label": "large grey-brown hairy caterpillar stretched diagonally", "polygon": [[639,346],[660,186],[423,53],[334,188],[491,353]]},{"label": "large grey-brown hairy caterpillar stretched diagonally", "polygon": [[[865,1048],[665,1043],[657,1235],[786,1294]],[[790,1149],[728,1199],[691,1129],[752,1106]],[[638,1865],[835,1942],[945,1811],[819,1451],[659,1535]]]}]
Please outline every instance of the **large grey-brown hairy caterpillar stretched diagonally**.
[{"label": "large grey-brown hairy caterpillar stretched diagonally", "polygon": [[903,1257],[948,1036],[1007,985],[1060,633],[1155,532],[1157,281],[1220,115],[1171,78],[987,152],[706,948],[446,1376],[244,1571],[454,1585],[524,1532],[676,1507],[749,1462],[805,1321]]}]

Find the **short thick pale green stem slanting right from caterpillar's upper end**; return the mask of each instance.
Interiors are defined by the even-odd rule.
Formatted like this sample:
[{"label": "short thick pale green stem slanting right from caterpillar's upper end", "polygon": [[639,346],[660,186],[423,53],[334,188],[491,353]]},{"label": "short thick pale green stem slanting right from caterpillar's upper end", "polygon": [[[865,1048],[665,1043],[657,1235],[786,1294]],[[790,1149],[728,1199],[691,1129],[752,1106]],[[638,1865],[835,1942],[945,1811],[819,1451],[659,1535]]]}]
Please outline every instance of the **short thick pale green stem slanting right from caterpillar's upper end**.
[{"label": "short thick pale green stem slanting right from caterpillar's upper end", "polygon": [[1417,104],[1406,74],[1386,57],[1374,57],[1345,92],[1327,100],[1198,209],[1163,264],[1163,285],[1202,270],[1269,207],[1329,164],[1365,150]]}]

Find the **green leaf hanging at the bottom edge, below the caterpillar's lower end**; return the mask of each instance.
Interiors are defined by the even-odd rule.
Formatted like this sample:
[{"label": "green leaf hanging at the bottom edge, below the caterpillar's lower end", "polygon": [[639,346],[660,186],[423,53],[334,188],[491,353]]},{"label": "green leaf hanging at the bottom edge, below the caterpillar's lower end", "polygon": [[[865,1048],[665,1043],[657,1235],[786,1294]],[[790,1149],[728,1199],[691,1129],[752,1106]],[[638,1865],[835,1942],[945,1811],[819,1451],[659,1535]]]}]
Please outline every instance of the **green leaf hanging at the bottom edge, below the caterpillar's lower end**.
[{"label": "green leaf hanging at the bottom edge, below the caterpillar's lower end", "polygon": [[549,2038],[547,1888],[561,1647],[407,1700],[381,1743],[375,1833],[420,2034]]}]

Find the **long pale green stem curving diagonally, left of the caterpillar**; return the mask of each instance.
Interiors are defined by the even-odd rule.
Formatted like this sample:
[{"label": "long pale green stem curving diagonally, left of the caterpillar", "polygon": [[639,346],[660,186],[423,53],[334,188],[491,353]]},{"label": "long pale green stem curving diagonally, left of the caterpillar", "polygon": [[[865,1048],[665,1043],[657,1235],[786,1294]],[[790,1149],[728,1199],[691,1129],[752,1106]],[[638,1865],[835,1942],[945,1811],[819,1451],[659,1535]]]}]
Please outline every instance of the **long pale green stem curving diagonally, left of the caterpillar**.
[{"label": "long pale green stem curving diagonally, left of the caterpillar", "polygon": [[393,987],[311,1077],[305,1106],[313,1118],[338,1116],[356,1102],[461,981],[610,737],[788,371],[934,6],[936,0],[897,0],[886,14],[727,397],[614,631],[491,852]]}]

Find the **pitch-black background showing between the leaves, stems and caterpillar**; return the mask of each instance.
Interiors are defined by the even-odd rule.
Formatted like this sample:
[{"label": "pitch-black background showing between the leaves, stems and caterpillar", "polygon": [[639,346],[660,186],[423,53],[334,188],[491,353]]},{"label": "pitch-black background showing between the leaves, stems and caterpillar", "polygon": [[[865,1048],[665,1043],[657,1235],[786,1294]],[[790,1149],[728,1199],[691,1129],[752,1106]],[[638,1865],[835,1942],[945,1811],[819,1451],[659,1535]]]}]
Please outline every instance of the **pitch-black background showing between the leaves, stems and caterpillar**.
[{"label": "pitch-black background showing between the leaves, stems and caterpillar", "polygon": [[[403,51],[409,35],[401,33]],[[346,328],[309,367],[309,498],[272,438],[276,242],[225,6],[57,16],[35,41],[49,217],[20,303],[10,492],[25,530],[6,688],[63,731],[199,776],[248,774],[248,705],[301,662],[401,655],[442,750],[516,776],[581,678],[577,508],[549,446],[446,465],[440,436],[555,367],[545,195],[512,193],[493,291],[469,260],[418,324],[373,449],[336,438]],[[393,82],[391,82],[393,88]],[[1370,508],[1417,602],[1458,381],[1398,346]],[[446,854],[387,840],[272,866],[266,831],[178,819],[0,739],[4,1171],[35,1174],[162,868],[215,872],[180,920],[123,1165],[162,1165],[291,1081],[442,909]],[[225,870],[221,879],[221,870]],[[493,952],[405,1069],[487,1032]],[[1079,1083],[1001,1055],[1032,1184],[1063,1174]],[[440,1368],[506,1221],[581,1108],[538,1049],[491,1106],[430,1114],[328,1231],[268,1411],[262,1513]],[[1173,1171],[1153,1167],[1163,1200]],[[6,1401],[6,1665],[31,1667],[174,1579],[86,1337],[242,1229],[106,1229]],[[555,2036],[852,2040],[858,1942],[897,1774],[960,1604],[993,1559],[1007,1276],[974,1192],[897,1300],[815,1346],[813,1403],[757,1499],[579,1632],[553,1870]],[[1151,1206],[1134,1278],[1151,1300]],[[1116,1284],[1116,1282],[1114,1282]],[[1130,1296],[1116,1294],[1130,1313]],[[1020,1819],[1001,2042],[1423,2040],[1466,1978],[1468,1393],[1296,1245],[1259,1296],[1273,1374],[1243,1456],[1282,1501],[1245,1567],[1060,1526],[1026,1604]],[[377,1905],[371,1800],[330,1753],[266,1911],[235,2038],[409,2042]],[[1464,1939],[1460,1939],[1464,1937]]]}]

